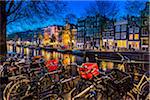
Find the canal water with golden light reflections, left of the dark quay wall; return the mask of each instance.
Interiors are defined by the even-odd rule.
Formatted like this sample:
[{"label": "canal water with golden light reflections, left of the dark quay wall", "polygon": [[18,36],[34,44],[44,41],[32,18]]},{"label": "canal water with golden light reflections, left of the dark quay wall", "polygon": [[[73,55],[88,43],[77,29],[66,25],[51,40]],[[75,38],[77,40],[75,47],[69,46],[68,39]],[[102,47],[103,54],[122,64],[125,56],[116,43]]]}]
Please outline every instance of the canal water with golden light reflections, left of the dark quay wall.
[{"label": "canal water with golden light reflections, left of the dark quay wall", "polygon": [[41,55],[45,58],[45,60],[50,59],[63,59],[65,64],[77,63],[81,65],[84,62],[84,58],[81,56],[73,55],[73,54],[65,54],[56,51],[48,51],[43,49],[30,49],[24,47],[14,47],[12,45],[7,46],[9,52],[16,52],[18,54],[26,54],[27,56],[33,57]]}]

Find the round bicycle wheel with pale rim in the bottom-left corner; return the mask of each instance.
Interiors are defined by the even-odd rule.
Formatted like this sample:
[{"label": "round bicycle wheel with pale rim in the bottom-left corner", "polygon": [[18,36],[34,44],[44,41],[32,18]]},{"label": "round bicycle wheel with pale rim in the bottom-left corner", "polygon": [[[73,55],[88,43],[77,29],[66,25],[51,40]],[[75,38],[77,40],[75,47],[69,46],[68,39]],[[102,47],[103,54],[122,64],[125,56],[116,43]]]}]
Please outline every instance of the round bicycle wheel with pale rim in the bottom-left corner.
[{"label": "round bicycle wheel with pale rim in the bottom-left corner", "polygon": [[26,95],[27,89],[29,88],[29,82],[28,79],[22,79],[13,84],[7,94],[7,100],[21,99],[21,97]]}]

